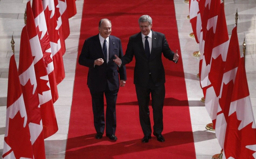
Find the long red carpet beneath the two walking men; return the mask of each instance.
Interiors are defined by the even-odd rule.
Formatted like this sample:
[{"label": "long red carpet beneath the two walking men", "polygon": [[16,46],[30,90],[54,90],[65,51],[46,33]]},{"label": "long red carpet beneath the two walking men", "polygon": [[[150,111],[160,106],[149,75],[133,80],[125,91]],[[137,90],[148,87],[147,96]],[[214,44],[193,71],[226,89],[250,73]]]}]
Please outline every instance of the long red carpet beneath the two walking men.
[{"label": "long red carpet beneath the two walking men", "polygon": [[[143,7],[143,8],[142,8]],[[104,133],[103,139],[94,138],[91,97],[87,83],[88,68],[77,64],[71,107],[66,159],[84,158],[177,158],[195,159],[194,140],[187,101],[182,58],[179,48],[177,22],[173,0],[85,0],[81,22],[78,53],[83,42],[98,34],[98,22],[109,18],[111,35],[118,36],[125,52],[129,36],[138,33],[138,18],[148,14],[153,19],[154,31],[166,34],[170,48],[179,52],[178,64],[163,58],[166,70],[166,99],[163,108],[163,136],[160,143],[152,137],[141,143],[138,104],[133,84],[135,60],[126,65],[127,84],[121,87],[117,99],[117,142],[111,142]],[[79,55],[78,55],[79,56]],[[152,117],[152,108],[151,119]],[[153,126],[153,121],[151,122]],[[152,134],[153,136],[153,134]]]}]

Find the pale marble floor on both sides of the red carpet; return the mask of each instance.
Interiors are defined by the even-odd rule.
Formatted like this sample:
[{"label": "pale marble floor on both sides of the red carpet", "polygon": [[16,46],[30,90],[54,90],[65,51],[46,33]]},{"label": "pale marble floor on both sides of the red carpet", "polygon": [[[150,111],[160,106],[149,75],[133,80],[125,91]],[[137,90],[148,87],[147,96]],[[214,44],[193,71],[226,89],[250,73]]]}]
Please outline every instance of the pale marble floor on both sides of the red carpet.
[{"label": "pale marble floor on both sides of the red carpet", "polygon": [[[15,58],[18,65],[19,44],[22,27],[24,26],[24,11],[27,0],[0,0],[0,158],[3,152],[3,138],[6,123],[6,101],[8,67],[11,55],[11,36],[15,41]],[[189,5],[184,0],[174,0],[178,34],[183,57],[183,67],[189,99],[191,123],[194,135],[194,145],[197,159],[210,159],[221,148],[215,136],[215,132],[207,131],[206,124],[211,123],[206,112],[198,74],[199,58],[192,56],[198,51],[198,44],[189,37],[192,32],[189,15]],[[48,159],[64,159],[66,139],[69,128],[72,91],[75,75],[75,65],[80,34],[83,0],[77,0],[77,15],[70,18],[70,36],[66,39],[66,53],[64,58],[65,79],[58,85],[59,99],[54,104],[59,130],[53,136],[45,140]],[[256,0],[225,0],[225,14],[229,35],[234,26],[235,11],[238,9],[238,38],[240,51],[242,43],[246,41],[246,72],[253,104],[254,116],[256,116]]]}]

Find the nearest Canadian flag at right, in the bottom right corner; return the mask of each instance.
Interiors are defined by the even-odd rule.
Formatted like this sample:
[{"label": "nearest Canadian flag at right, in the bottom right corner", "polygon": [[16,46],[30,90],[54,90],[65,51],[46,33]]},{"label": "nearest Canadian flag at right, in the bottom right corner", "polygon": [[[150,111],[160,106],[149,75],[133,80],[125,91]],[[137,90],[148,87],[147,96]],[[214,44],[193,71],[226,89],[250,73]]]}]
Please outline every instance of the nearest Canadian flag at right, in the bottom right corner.
[{"label": "nearest Canadian flag at right, in the bottom right corner", "polygon": [[223,159],[256,158],[256,124],[244,57],[239,60],[228,116]]}]

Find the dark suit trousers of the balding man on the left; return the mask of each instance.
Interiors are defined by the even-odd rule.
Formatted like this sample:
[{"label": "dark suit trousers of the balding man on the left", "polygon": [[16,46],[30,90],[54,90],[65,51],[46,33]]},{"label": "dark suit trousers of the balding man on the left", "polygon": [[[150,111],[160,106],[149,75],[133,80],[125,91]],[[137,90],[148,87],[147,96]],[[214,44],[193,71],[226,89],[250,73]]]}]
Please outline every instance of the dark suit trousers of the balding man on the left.
[{"label": "dark suit trousers of the balding man on the left", "polygon": [[[106,134],[114,135],[117,127],[115,106],[117,102],[118,90],[109,90],[106,86],[104,91],[91,90],[91,101],[93,105],[94,127],[97,133],[104,133],[106,125]],[[106,124],[104,116],[104,94],[106,97]]]}]

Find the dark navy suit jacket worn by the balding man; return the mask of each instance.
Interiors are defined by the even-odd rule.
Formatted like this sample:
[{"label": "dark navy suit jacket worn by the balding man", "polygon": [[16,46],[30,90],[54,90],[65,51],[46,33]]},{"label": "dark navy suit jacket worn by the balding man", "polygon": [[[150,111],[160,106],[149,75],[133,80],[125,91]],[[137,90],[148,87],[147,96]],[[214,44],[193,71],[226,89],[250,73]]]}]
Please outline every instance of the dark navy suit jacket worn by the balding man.
[{"label": "dark navy suit jacket worn by the balding man", "polygon": [[[85,40],[81,55],[79,56],[79,64],[89,67],[87,76],[87,85],[91,90],[104,91],[106,84],[110,90],[119,89],[120,80],[126,80],[126,68],[122,66],[118,70],[117,64],[114,63],[114,55],[119,58],[123,56],[121,40],[118,37],[109,36],[109,62],[107,63],[102,51],[99,35],[89,37]],[[101,66],[94,66],[94,60],[102,58],[104,63]]]}]

